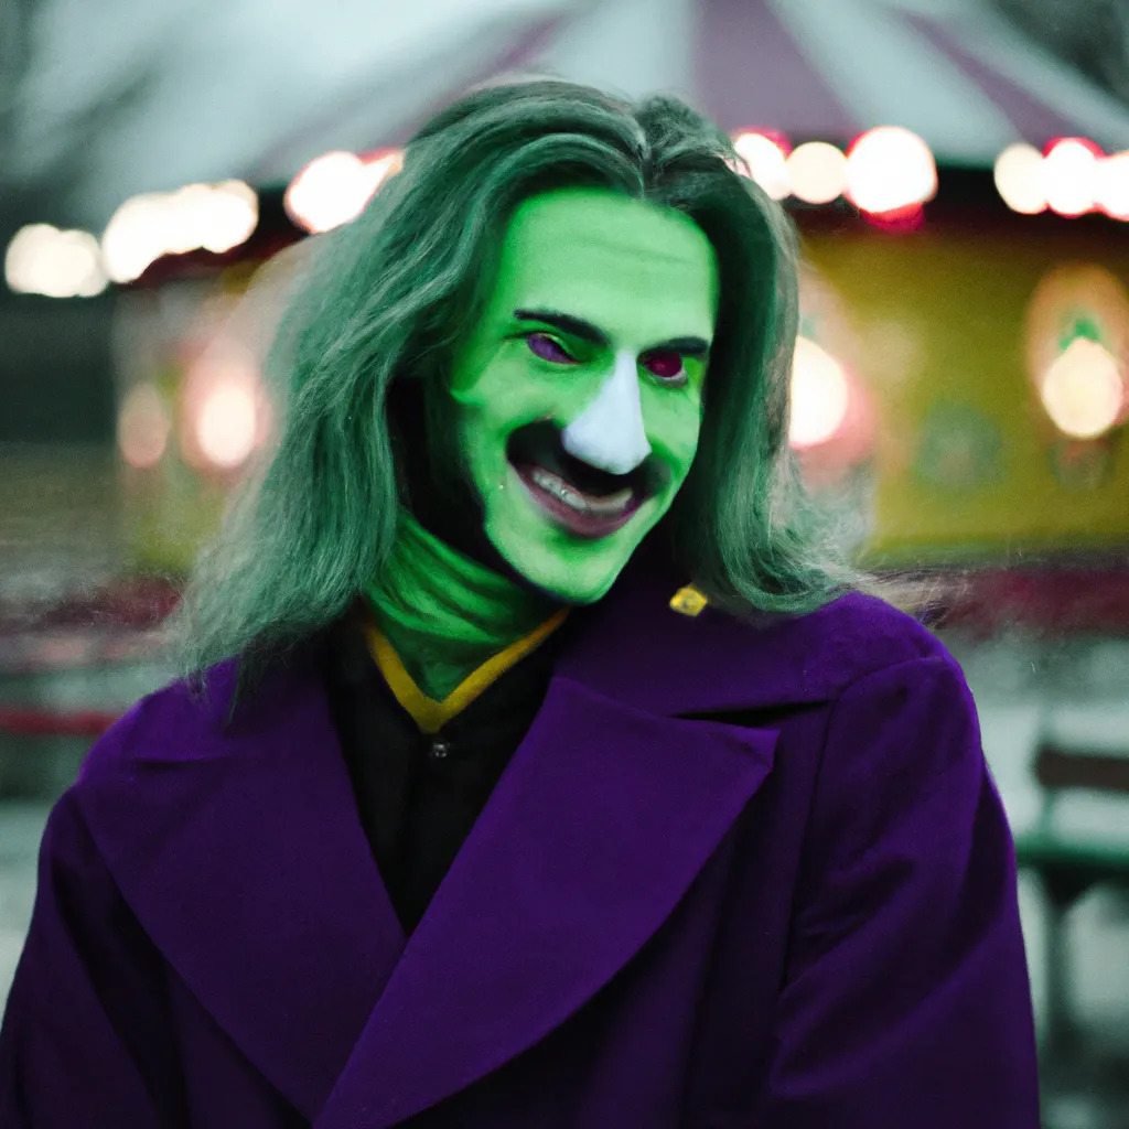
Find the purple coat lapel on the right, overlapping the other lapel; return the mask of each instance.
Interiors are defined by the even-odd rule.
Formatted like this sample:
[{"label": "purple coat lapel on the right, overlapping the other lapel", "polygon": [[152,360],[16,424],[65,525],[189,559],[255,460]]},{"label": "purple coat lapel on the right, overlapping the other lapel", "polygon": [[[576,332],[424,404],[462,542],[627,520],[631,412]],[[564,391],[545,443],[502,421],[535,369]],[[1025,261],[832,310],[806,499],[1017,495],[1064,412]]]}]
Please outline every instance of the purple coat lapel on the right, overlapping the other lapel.
[{"label": "purple coat lapel on the right, overlapping the other lapel", "polygon": [[774,742],[554,677],[317,1129],[395,1124],[564,1022],[667,918]]}]

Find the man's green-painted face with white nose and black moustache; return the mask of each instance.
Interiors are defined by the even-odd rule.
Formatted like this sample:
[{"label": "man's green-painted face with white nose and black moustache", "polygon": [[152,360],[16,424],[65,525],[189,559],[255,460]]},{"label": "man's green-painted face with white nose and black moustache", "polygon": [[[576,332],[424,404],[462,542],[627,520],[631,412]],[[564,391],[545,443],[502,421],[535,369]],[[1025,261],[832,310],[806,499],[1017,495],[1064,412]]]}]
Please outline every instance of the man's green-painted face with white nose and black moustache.
[{"label": "man's green-painted face with white nose and black moustache", "polygon": [[570,189],[515,211],[452,394],[487,536],[544,592],[599,599],[669,509],[717,294],[709,240],[672,209]]}]

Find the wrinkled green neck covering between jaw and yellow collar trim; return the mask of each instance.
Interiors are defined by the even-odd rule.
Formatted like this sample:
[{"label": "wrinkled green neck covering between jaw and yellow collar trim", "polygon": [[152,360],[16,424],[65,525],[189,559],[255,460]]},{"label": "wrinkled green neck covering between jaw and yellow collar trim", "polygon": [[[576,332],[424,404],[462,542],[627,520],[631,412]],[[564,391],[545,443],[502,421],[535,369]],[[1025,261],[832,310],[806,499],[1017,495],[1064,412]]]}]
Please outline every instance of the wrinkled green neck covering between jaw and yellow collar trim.
[{"label": "wrinkled green neck covering between jaw and yellow collar trim", "polygon": [[557,610],[403,511],[392,553],[365,596],[408,673],[437,701]]}]

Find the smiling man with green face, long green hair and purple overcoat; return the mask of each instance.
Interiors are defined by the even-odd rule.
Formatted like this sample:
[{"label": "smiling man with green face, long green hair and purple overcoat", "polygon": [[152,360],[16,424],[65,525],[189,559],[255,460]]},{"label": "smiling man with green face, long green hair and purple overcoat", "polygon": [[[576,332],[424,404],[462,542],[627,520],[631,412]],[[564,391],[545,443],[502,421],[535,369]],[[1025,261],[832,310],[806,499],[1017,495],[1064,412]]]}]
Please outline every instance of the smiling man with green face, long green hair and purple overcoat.
[{"label": "smiling man with green face, long green hair and purple overcoat", "polygon": [[972,702],[807,531],[734,164],[495,87],[323,250],[191,676],[49,824],[6,1126],[1035,1129]]}]

